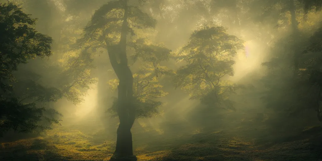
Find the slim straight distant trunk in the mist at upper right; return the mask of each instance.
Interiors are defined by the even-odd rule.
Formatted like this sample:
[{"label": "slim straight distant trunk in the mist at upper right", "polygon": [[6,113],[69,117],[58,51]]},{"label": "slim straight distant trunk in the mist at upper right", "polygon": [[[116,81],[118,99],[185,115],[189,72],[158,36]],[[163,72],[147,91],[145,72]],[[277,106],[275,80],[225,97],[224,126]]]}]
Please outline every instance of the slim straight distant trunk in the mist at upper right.
[{"label": "slim straight distant trunk in the mist at upper right", "polygon": [[[291,23],[292,23],[292,34],[293,39],[296,41],[298,37],[298,21],[296,21],[296,6],[294,4],[294,0],[289,0],[289,11],[291,13]],[[293,76],[296,77],[298,75],[298,62],[299,55],[298,50],[294,49],[294,73]]]}]

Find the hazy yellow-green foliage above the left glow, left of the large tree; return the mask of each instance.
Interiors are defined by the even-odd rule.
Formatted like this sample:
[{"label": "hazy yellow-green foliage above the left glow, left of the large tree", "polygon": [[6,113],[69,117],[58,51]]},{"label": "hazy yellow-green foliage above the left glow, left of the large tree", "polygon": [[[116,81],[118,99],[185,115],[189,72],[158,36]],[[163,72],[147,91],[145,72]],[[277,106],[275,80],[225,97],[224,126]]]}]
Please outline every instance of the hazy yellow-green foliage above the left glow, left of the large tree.
[{"label": "hazy yellow-green foliage above the left glow, left of the large tree", "polygon": [[88,47],[75,47],[76,40],[83,33],[82,19],[70,14],[62,15],[62,19],[65,20],[61,23],[60,41],[57,42],[52,63],[47,68],[52,74],[44,75],[46,79],[53,80],[52,85],[61,90],[63,97],[78,104],[83,101],[84,90],[97,82],[92,74],[92,69],[96,67],[93,63],[96,53]]}]

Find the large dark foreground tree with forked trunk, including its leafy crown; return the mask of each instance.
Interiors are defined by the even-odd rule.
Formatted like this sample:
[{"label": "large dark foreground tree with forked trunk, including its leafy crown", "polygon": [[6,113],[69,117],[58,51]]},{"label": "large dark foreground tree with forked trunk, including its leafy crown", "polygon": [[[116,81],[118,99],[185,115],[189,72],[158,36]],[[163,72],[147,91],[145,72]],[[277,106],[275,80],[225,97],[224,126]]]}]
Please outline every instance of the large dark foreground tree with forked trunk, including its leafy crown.
[{"label": "large dark foreground tree with forked trunk, including its leafy crown", "polygon": [[[141,1],[131,1],[130,3],[128,0],[116,0],[101,6],[85,27],[83,38],[79,40],[79,45],[83,48],[90,47],[90,51],[101,48],[107,50],[109,61],[118,78],[118,98],[115,103],[115,111],[120,123],[117,129],[116,149],[111,160],[136,160],[133,155],[130,130],[135,118],[138,117],[139,108],[136,103],[138,93],[143,94],[139,92],[141,88],[139,86],[146,86],[147,82],[133,78],[127,53],[134,49],[137,56],[150,54],[152,58],[152,55],[157,55],[157,53],[169,52],[163,47],[151,46],[149,43],[140,41],[144,38],[144,33],[139,34],[138,31],[155,27],[156,20],[142,12],[140,5],[137,4],[141,4]],[[134,80],[137,81],[136,84],[139,88],[133,87]]]}]

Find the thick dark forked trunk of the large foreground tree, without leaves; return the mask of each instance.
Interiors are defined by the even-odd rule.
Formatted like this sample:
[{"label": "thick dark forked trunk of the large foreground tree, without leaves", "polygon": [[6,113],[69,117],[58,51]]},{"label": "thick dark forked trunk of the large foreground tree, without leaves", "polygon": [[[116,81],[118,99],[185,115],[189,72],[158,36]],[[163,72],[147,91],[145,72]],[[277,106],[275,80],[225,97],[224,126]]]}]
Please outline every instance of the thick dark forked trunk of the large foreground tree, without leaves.
[{"label": "thick dark forked trunk of the large foreground tree, without leaves", "polygon": [[[118,84],[118,102],[117,114],[120,124],[117,129],[116,149],[111,160],[130,160],[125,157],[133,156],[132,134],[131,128],[135,120],[135,107],[133,105],[133,76],[128,67],[128,59],[126,55],[126,41],[128,33],[128,6],[124,1],[124,17],[122,23],[122,31],[120,42],[118,45],[108,45],[108,53],[111,65],[119,79]],[[118,63],[116,54],[119,56]],[[136,157],[133,160],[136,160]],[[132,160],[132,159],[131,159]]]}]

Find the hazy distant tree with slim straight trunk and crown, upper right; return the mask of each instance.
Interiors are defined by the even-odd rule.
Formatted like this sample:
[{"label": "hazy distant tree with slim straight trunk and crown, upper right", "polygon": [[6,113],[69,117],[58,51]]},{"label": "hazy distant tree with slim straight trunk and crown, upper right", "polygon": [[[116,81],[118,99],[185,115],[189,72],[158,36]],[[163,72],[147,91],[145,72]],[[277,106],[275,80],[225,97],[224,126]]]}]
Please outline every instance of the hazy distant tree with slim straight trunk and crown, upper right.
[{"label": "hazy distant tree with slim straight trunk and crown, upper right", "polygon": [[[288,27],[288,31],[292,35],[292,37],[290,38],[294,41],[300,41],[301,37],[299,36],[300,33],[298,31],[299,20],[303,18],[304,20],[306,20],[308,11],[312,8],[315,7],[316,10],[319,10],[319,6],[321,6],[321,1],[255,0],[251,3],[251,6],[251,9],[254,9],[254,11],[259,12],[259,14],[254,14],[255,19],[260,20],[262,23],[270,23],[276,24],[276,26]],[[290,19],[288,18],[288,15],[290,15]],[[294,50],[292,55],[293,77],[296,78],[298,75],[298,63],[300,59],[300,53],[298,51],[300,51],[301,49],[297,48],[297,46],[293,46],[292,48]]]}]

